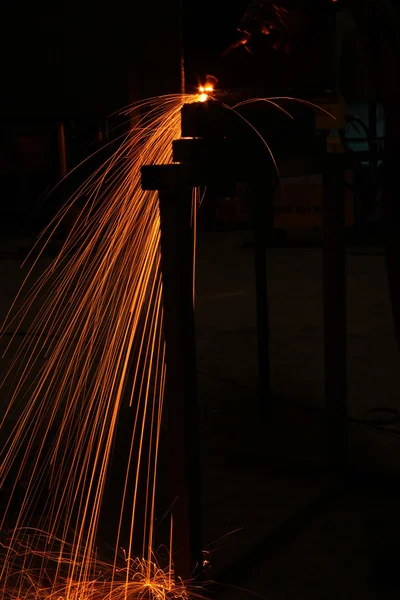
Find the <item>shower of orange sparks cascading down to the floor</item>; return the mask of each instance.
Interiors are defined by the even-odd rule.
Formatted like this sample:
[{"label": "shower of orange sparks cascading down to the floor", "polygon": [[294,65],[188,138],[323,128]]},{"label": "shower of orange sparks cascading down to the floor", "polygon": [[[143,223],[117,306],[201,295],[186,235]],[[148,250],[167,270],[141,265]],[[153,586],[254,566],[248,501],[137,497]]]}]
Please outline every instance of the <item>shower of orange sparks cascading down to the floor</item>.
[{"label": "shower of orange sparks cascading down to the floor", "polygon": [[[136,125],[48,226],[42,247],[85,198],[58,256],[28,291],[25,280],[6,317],[3,332],[25,324],[27,335],[5,378],[17,384],[0,422],[0,488],[12,481],[0,517],[0,530],[11,531],[1,543],[4,598],[187,595],[172,562],[163,571],[153,550],[165,348],[158,199],[142,191],[140,167],[171,162],[181,107],[200,99],[164,96],[124,112],[136,111]],[[97,533],[124,402],[132,407],[133,433],[115,558],[107,567],[95,558]],[[140,495],[144,531],[137,559]],[[129,543],[121,566],[126,515]]]}]

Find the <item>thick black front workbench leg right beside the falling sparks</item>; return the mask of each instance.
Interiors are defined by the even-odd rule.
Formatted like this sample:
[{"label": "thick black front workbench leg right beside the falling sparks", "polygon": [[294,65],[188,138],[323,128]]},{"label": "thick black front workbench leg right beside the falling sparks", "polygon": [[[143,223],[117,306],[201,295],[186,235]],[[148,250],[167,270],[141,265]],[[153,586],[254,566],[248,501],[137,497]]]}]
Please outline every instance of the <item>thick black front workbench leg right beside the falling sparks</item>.
[{"label": "thick black front workbench leg right beside the falling sparks", "polygon": [[191,189],[159,197],[173,558],[190,579],[202,566]]}]

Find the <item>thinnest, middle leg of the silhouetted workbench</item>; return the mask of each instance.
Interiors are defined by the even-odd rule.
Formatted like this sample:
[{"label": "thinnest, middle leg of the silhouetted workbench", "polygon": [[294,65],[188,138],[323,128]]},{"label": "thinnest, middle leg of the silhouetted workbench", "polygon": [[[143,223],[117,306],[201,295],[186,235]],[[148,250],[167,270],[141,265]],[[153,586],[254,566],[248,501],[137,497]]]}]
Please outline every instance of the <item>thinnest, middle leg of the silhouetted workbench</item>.
[{"label": "thinnest, middle leg of the silhouetted workbench", "polygon": [[[271,183],[272,189],[272,183]],[[269,190],[260,174],[248,185],[254,235],[254,269],[256,282],[257,353],[260,414],[265,416],[271,405],[271,370],[269,357],[267,237],[270,233]]]}]

